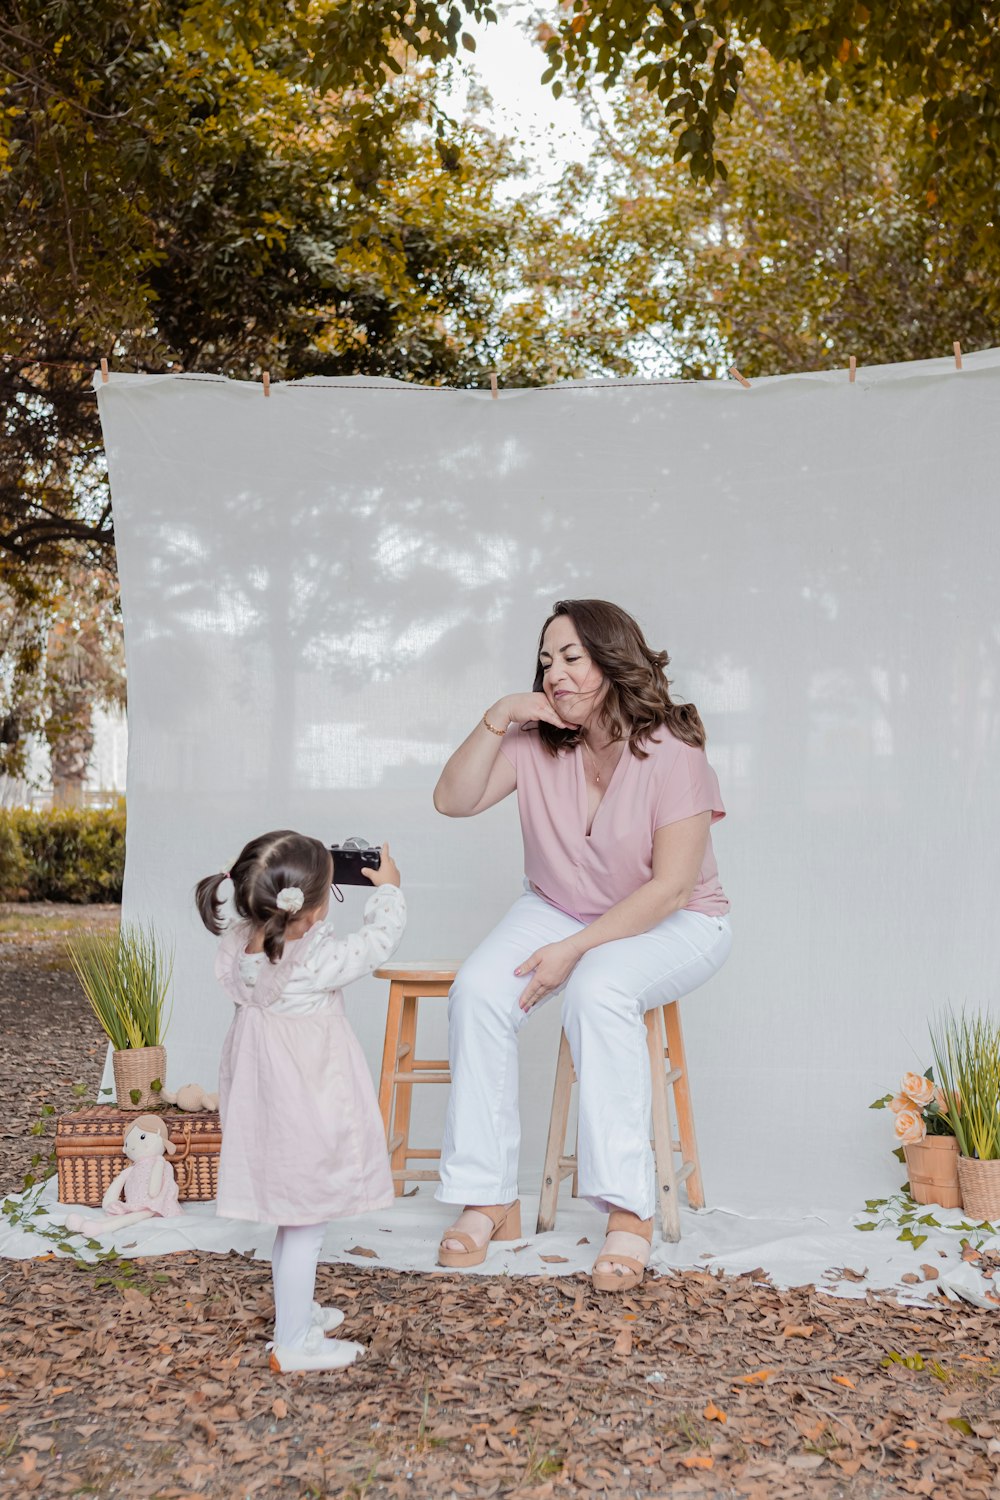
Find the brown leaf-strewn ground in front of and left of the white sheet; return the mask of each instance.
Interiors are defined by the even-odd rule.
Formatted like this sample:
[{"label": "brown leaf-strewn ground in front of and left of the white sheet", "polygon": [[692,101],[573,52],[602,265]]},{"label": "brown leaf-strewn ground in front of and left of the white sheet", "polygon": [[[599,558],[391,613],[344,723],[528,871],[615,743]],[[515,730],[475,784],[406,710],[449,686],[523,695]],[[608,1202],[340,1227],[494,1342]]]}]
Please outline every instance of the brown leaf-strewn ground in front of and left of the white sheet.
[{"label": "brown leaf-strewn ground in front of and left of the white sheet", "polygon": [[[10,1191],[37,1150],[12,1122],[67,1107],[103,1047],[57,939],[4,942],[4,921]],[[0,1494],[1000,1496],[1000,1350],[973,1308],[700,1270],[613,1299],[579,1276],[321,1266],[318,1293],[367,1356],[273,1376],[267,1264],[0,1263]]]}]

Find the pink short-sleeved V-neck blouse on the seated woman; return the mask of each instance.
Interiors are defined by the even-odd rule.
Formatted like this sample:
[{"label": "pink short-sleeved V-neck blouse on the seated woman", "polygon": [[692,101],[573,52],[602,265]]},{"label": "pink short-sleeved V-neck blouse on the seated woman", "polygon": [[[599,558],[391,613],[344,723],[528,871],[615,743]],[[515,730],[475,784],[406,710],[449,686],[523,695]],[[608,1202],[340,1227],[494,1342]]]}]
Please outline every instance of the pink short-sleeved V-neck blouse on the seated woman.
[{"label": "pink short-sleeved V-neck blouse on the seated woman", "polygon": [[[553,756],[537,729],[519,724],[504,736],[501,752],[517,774],[525,874],[540,896],[577,921],[592,922],[652,879],[657,828],[696,813],[711,812],[712,822],[726,816],[703,750],[667,729],[643,741],[643,750],[648,756],[640,760],[625,746],[588,834],[582,748]],[[709,916],[729,910],[711,834],[687,909]]]}]

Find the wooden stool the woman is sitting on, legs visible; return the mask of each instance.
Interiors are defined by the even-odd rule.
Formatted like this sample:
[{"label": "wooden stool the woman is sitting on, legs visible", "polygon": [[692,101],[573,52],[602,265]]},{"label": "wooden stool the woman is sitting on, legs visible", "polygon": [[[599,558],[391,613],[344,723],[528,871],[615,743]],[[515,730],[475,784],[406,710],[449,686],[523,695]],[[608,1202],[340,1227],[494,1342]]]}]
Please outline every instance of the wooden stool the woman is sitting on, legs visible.
[{"label": "wooden stool the woman is sitting on, legs visible", "polygon": [[[661,1016],[663,1022],[660,1020]],[[663,1046],[664,1026],[667,1032],[666,1048]],[[646,1046],[649,1047],[649,1077],[652,1083],[652,1150],[657,1161],[660,1221],[663,1238],[678,1240],[681,1239],[679,1185],[687,1180],[688,1203],[693,1209],[705,1208],[702,1167],[699,1164],[694,1114],[691,1113],[691,1095],[688,1092],[684,1060],[679,1000],[646,1011]],[[670,1062],[670,1068],[664,1068],[664,1059]],[[562,1032],[559,1040],[559,1060],[556,1064],[556,1086],[552,1095],[546,1164],[541,1173],[541,1197],[538,1200],[538,1222],[535,1226],[538,1234],[553,1228],[559,1202],[559,1184],[570,1174],[573,1174],[573,1196],[576,1197],[576,1155],[565,1155],[570,1094],[574,1083],[576,1072],[573,1070],[573,1058],[570,1056],[570,1042],[565,1032]],[[669,1084],[673,1084],[673,1102],[678,1112],[678,1134],[681,1140],[672,1140]],[[675,1167],[673,1162],[675,1150],[681,1152],[679,1167]]]}]

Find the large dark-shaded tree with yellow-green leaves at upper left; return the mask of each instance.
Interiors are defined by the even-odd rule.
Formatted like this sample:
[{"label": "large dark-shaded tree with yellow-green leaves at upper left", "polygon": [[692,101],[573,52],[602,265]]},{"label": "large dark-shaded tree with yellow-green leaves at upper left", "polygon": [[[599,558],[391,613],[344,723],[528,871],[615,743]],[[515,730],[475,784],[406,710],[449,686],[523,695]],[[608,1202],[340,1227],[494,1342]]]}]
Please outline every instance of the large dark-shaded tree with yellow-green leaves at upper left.
[{"label": "large dark-shaded tree with yellow-green leaves at upper left", "polygon": [[513,158],[441,116],[426,74],[378,94],[310,82],[327,22],[304,0],[7,9],[9,573],[58,568],[66,546],[112,556],[88,390],[100,352],[240,376],[484,378],[492,268],[517,225],[496,201]]}]

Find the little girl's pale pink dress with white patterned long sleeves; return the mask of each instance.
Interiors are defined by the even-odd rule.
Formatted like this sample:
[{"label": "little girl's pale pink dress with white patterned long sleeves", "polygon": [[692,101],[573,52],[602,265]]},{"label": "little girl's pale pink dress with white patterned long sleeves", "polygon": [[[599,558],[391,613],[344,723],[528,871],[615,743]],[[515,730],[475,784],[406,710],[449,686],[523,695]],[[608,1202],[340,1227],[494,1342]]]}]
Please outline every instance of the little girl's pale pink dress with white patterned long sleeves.
[{"label": "little girl's pale pink dress with white patterned long sleeves", "polygon": [[216,1212],[265,1224],[322,1224],[394,1200],[372,1076],[340,987],[394,952],[406,903],[379,885],[364,926],[336,938],[318,922],[279,963],[246,954],[229,927],[216,975],[235,1002],[222,1048],[222,1155]]}]

